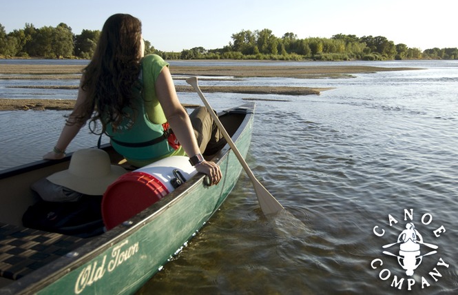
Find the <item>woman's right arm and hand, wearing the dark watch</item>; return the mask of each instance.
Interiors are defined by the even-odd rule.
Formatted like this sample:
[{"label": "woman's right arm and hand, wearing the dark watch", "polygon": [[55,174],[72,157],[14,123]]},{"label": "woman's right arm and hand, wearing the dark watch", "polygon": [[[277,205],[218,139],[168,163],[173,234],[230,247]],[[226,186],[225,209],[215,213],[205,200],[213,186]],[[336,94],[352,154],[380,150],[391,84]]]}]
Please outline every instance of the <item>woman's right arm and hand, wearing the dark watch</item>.
[{"label": "woman's right arm and hand, wearing the dark watch", "polygon": [[[180,144],[183,145],[186,154],[188,156],[200,154],[191,120],[185,108],[178,101],[174,81],[171,79],[171,74],[167,67],[163,68],[156,80],[156,95],[171,129],[174,130],[174,134]],[[222,177],[220,167],[214,162],[203,161],[196,165],[196,170],[207,174],[212,185],[216,185]]]}]

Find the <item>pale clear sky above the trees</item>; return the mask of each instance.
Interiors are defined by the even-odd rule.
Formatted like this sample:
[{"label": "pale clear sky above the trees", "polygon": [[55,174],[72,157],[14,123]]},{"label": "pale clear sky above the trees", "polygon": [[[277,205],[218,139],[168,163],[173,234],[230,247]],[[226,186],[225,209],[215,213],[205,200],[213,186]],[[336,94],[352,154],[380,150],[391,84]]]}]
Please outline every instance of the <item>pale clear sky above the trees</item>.
[{"label": "pale clear sky above the trees", "polygon": [[456,0],[14,0],[2,3],[6,32],[56,27],[74,34],[101,30],[115,13],[142,21],[143,38],[157,50],[181,52],[229,45],[242,30],[269,29],[276,37],[292,32],[299,39],[335,34],[382,36],[409,48],[458,48]]}]

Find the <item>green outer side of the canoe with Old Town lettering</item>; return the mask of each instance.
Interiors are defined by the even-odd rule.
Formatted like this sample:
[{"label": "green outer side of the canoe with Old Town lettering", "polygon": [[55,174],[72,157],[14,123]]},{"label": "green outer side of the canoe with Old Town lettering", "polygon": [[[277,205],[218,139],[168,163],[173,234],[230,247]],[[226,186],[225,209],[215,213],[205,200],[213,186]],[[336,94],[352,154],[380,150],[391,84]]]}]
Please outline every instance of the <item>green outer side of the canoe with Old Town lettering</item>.
[{"label": "green outer side of the canoe with Old Town lettering", "polygon": [[[251,142],[253,108],[233,135],[243,156]],[[228,146],[216,154],[223,178],[205,185],[198,174],[151,207],[1,291],[17,294],[132,294],[178,253],[225,201],[242,166]],[[40,269],[42,270],[42,269]]]}]

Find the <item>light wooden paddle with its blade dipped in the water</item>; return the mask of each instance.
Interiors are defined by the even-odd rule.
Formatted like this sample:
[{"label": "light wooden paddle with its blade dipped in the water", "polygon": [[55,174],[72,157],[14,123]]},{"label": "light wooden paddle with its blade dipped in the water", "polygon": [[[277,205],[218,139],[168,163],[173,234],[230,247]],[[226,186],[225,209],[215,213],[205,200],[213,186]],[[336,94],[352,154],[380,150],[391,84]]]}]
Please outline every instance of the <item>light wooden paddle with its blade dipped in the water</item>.
[{"label": "light wooden paddle with its blade dipped in the water", "polygon": [[245,172],[247,172],[247,175],[249,179],[251,180],[251,183],[253,183],[253,187],[256,192],[256,196],[258,197],[258,202],[259,202],[262,212],[265,215],[267,215],[267,214],[274,214],[274,213],[277,213],[283,210],[284,209],[283,206],[280,203],[278,203],[278,201],[271,195],[271,193],[268,192],[264,186],[262,186],[262,184],[258,181],[258,179],[256,179],[253,172],[251,172],[250,168],[248,167],[247,162],[245,162],[242,154],[240,154],[235,143],[233,143],[231,136],[229,136],[229,134],[225,130],[220,119],[218,119],[218,116],[215,114],[215,112],[209,105],[207,99],[205,99],[205,96],[202,93],[202,91],[200,91],[200,88],[197,82],[197,77],[189,77],[188,79],[186,79],[186,82],[189,85],[191,85],[194,88],[194,90],[196,90],[196,92],[199,94],[200,99],[202,99],[203,103],[205,104],[205,107],[207,108],[211,116],[213,117],[216,125],[218,125],[218,128],[220,128],[222,135],[225,136],[227,143],[229,143],[229,146],[231,147],[232,152],[237,156],[238,161],[240,162],[240,164],[242,164],[242,167],[245,170]]}]

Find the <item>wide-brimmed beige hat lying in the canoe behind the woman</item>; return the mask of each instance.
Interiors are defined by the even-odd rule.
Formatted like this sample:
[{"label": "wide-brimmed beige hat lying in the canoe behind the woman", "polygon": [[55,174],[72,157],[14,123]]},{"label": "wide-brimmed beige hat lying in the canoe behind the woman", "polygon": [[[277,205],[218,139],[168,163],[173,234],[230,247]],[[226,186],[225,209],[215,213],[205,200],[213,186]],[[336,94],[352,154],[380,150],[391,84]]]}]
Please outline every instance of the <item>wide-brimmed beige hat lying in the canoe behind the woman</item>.
[{"label": "wide-brimmed beige hat lying in the canoe behind the woman", "polygon": [[90,148],[74,152],[68,170],[56,172],[47,179],[70,190],[97,196],[126,172],[123,167],[111,165],[107,152]]}]

